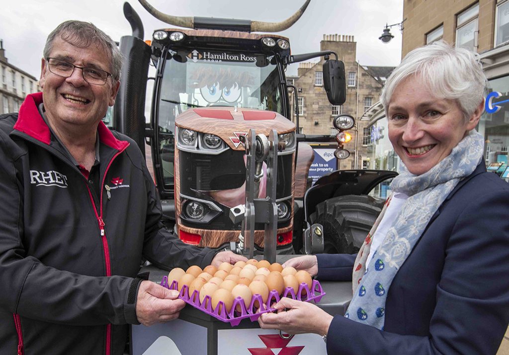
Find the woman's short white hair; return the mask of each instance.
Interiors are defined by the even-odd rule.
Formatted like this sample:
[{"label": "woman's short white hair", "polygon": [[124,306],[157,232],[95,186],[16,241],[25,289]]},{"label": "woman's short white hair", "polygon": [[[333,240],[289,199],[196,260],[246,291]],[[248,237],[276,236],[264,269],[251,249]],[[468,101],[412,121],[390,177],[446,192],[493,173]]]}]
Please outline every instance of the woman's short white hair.
[{"label": "woman's short white hair", "polygon": [[438,41],[409,52],[387,78],[380,99],[387,116],[395,88],[414,75],[437,99],[456,100],[466,120],[484,101],[488,80],[479,54]]}]

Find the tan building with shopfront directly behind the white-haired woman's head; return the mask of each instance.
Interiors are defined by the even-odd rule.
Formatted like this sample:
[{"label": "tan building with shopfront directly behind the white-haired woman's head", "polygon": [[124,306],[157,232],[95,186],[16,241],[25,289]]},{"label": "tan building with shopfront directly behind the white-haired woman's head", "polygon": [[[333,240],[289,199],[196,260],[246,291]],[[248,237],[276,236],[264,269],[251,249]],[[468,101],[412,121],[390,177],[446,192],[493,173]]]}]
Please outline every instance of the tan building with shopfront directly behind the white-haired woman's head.
[{"label": "tan building with shopfront directly behind the white-haired woman's head", "polygon": [[[488,101],[496,112],[484,112],[476,129],[485,136],[488,170],[509,181],[509,0],[403,0],[402,57],[412,49],[438,40],[479,53],[488,78]],[[491,98],[491,99],[490,99]],[[384,145],[386,123],[381,107],[365,115],[373,136],[372,160],[384,169],[399,162]],[[391,159],[391,157],[394,157]],[[391,164],[385,164],[392,162]],[[371,168],[371,167],[370,167]],[[372,168],[376,168],[373,165]],[[509,343],[508,343],[509,346]]]}]

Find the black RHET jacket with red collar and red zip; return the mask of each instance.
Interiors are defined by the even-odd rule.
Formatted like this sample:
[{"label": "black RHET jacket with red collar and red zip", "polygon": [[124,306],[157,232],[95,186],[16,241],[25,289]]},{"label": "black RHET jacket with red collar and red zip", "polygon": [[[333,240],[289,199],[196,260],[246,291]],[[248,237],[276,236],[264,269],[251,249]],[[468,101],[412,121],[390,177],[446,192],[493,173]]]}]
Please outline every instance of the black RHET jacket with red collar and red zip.
[{"label": "black RHET jacket with red collar and red zip", "polygon": [[[160,222],[143,155],[100,122],[100,194],[40,116],[42,93],[0,116],[0,353],[122,354],[142,256],[209,265]],[[105,185],[110,188],[108,198]]]}]

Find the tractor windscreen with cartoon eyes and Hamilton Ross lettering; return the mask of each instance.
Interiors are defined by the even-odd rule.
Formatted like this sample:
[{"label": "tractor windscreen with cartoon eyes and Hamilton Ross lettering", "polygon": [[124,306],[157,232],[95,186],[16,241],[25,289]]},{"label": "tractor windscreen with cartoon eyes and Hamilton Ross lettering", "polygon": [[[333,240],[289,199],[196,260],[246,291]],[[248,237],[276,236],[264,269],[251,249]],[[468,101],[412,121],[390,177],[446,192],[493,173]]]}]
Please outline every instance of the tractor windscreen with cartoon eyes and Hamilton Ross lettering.
[{"label": "tractor windscreen with cartoon eyes and Hamilton Ross lettering", "polygon": [[238,107],[283,114],[273,56],[209,50],[169,51],[157,94],[163,184],[173,189],[175,118],[196,107]]}]

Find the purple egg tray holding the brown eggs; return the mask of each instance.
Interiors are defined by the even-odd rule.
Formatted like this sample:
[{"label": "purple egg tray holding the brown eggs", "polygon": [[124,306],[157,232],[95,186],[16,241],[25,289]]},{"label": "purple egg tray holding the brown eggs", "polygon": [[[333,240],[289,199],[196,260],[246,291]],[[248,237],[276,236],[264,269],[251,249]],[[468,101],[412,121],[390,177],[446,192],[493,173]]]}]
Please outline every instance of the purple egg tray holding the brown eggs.
[{"label": "purple egg tray holding the brown eggs", "polygon": [[[169,289],[178,289],[177,281],[173,281],[171,285],[168,285],[168,277],[164,276],[161,281],[161,286],[164,286]],[[302,295],[302,291],[306,291],[305,295]],[[219,301],[219,304],[215,309],[212,309],[211,298],[210,296],[205,296],[203,302],[200,302],[200,293],[196,290],[193,291],[192,295],[189,297],[188,295],[188,287],[184,285],[180,290],[179,298],[184,300],[185,303],[190,304],[194,308],[197,308],[211,316],[223,321],[230,323],[232,327],[237,326],[242,319],[249,318],[251,321],[255,321],[260,317],[262,313],[273,312],[276,309],[271,308],[270,305],[273,303],[277,303],[280,300],[277,291],[273,290],[269,292],[269,297],[267,298],[267,302],[263,302],[262,296],[256,294],[251,298],[251,303],[246,309],[244,305],[244,300],[241,297],[237,297],[232,304],[232,309],[230,312],[227,312],[224,307],[224,303]],[[306,283],[301,283],[299,285],[299,289],[297,292],[298,296],[295,295],[292,287],[285,288],[282,297],[292,298],[298,301],[310,302],[314,301],[318,303],[322,297],[325,295],[323,291],[322,285],[318,280],[313,280],[311,285],[311,289],[307,287]],[[307,296],[307,297],[306,297]],[[259,308],[254,305],[260,305]],[[241,311],[238,312],[236,310],[237,306],[240,307]]]}]

